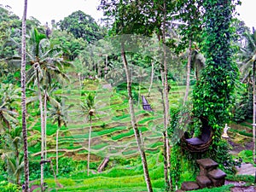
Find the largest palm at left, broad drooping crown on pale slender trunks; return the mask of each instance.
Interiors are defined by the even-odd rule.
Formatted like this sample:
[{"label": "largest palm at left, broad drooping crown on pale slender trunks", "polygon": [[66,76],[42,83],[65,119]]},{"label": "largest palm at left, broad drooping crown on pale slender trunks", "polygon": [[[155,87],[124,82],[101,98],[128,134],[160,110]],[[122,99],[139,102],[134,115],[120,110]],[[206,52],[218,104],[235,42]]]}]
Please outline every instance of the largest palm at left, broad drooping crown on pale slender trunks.
[{"label": "largest palm at left, broad drooping crown on pale slender trunks", "polygon": [[[39,33],[36,29],[30,32],[29,46],[26,51],[29,56],[31,68],[27,71],[27,84],[32,81],[38,87],[38,100],[41,118],[41,160],[46,160],[44,151],[46,150],[46,94],[44,94],[44,107],[43,107],[43,91],[47,90],[49,84],[54,80],[62,81],[68,79],[64,73],[64,67],[70,66],[71,63],[63,61],[60,49],[50,44],[49,40],[44,34]],[[42,85],[42,86],[41,86]],[[44,93],[46,93],[44,91]],[[44,163],[41,164],[41,186],[44,190]]]}]

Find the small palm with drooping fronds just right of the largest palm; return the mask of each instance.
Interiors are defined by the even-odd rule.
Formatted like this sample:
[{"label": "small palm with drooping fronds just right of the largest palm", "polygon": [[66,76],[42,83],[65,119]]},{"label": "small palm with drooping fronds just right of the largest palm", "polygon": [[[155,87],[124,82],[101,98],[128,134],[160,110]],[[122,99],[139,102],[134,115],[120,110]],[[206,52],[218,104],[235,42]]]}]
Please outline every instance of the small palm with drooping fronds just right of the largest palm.
[{"label": "small palm with drooping fronds just right of the largest palm", "polygon": [[61,101],[61,97],[57,96],[55,98],[50,98],[49,102],[51,103],[51,107],[49,109],[49,118],[53,119],[53,123],[58,124],[58,129],[56,132],[56,176],[58,175],[58,139],[59,139],[59,131],[61,130],[61,126],[64,125],[67,127],[67,112],[72,105],[65,106],[64,101]]}]

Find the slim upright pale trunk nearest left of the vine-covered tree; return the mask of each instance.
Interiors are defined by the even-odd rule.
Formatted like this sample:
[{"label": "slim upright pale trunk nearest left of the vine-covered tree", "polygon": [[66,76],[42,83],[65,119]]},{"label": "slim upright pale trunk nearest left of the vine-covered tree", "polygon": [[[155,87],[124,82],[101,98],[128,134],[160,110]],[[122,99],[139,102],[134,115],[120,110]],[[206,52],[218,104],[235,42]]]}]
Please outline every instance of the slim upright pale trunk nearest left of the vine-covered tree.
[{"label": "slim upright pale trunk nearest left of the vine-covered tree", "polygon": [[[164,11],[164,18],[163,18],[163,31],[162,31],[162,41],[163,41],[163,48],[164,48],[164,96],[165,96],[165,104],[166,104],[166,108],[165,108],[165,115],[166,115],[166,119],[165,119],[165,130],[166,133],[164,134],[165,136],[165,143],[166,143],[166,158],[167,158],[167,166],[170,167],[170,146],[169,146],[169,140],[167,137],[167,128],[169,125],[169,87],[168,87],[168,81],[167,81],[167,73],[168,73],[168,69],[167,69],[167,51],[166,51],[166,0],[164,0],[164,4],[163,4],[163,11]],[[169,178],[168,178],[169,180]],[[172,180],[170,178],[169,182],[166,183],[166,188],[167,189],[172,189]]]}]

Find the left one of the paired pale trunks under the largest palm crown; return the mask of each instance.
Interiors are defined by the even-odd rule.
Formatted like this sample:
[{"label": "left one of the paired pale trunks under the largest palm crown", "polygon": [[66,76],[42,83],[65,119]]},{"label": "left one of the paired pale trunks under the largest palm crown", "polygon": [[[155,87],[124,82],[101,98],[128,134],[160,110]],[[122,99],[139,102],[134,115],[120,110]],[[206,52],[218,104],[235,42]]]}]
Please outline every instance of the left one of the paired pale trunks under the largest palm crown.
[{"label": "left one of the paired pale trunks under the largest palm crown", "polygon": [[[39,63],[38,63],[38,66]],[[41,190],[44,191],[44,110],[43,110],[43,101],[42,101],[42,93],[40,90],[40,82],[39,82],[39,74],[37,68],[37,80],[38,80],[38,100],[39,100],[39,108],[40,108],[40,116],[41,116]]]}]

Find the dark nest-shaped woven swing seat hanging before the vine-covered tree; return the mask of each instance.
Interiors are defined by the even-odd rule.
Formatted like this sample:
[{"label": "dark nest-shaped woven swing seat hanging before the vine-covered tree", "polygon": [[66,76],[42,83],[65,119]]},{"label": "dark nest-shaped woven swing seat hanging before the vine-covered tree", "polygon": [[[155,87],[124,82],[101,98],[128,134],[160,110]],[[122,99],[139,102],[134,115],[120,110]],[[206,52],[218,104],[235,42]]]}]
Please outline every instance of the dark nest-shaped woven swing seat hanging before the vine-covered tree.
[{"label": "dark nest-shaped woven swing seat hanging before the vine-covered tree", "polygon": [[192,153],[202,153],[212,144],[212,127],[208,124],[206,118],[201,117],[201,135],[199,137],[188,137],[188,133],[185,132],[181,142],[184,149],[189,150]]}]

